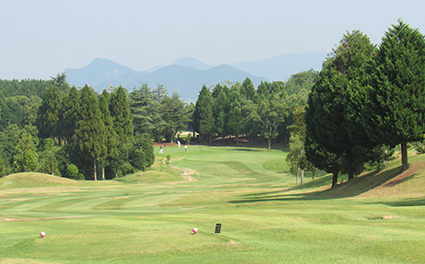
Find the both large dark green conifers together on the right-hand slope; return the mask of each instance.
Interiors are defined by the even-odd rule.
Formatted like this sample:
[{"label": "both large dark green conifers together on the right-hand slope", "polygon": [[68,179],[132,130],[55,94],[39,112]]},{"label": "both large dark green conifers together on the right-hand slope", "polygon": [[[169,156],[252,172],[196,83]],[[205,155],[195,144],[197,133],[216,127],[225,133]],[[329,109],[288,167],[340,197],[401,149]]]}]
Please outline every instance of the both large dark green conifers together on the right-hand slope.
[{"label": "both large dark green conifers together on the right-hand slope", "polygon": [[[365,162],[384,163],[400,145],[425,134],[425,40],[399,20],[379,47],[355,30],[344,34],[324,61],[305,108],[307,161],[353,179]],[[302,120],[300,121],[302,122]],[[304,165],[302,165],[304,166]]]}]

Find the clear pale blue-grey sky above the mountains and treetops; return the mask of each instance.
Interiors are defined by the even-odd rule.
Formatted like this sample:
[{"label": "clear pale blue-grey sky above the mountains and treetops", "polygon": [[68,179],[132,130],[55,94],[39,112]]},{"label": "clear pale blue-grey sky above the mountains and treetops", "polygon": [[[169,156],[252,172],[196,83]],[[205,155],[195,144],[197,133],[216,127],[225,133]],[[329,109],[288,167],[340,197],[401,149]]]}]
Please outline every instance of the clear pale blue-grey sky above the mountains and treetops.
[{"label": "clear pale blue-grey sky above the mountains and treetops", "polygon": [[425,34],[423,0],[0,0],[0,79],[50,79],[104,58],[145,71],[330,53],[361,30],[379,45],[399,18]]}]

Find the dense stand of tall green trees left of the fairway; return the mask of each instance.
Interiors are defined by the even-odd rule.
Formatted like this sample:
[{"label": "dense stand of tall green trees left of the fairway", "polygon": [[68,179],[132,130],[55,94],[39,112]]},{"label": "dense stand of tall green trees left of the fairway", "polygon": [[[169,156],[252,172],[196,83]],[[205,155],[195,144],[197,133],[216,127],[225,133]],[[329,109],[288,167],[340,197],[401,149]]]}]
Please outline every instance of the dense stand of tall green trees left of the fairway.
[{"label": "dense stand of tall green trees left of the fairway", "polygon": [[133,133],[126,90],[120,86],[98,95],[87,85],[69,88],[65,78],[52,78],[42,100],[34,95],[38,100],[27,105],[31,111],[21,104],[22,111],[14,113],[10,102],[16,96],[0,93],[0,174],[37,171],[97,180],[98,173],[107,179],[151,166],[152,140]]}]

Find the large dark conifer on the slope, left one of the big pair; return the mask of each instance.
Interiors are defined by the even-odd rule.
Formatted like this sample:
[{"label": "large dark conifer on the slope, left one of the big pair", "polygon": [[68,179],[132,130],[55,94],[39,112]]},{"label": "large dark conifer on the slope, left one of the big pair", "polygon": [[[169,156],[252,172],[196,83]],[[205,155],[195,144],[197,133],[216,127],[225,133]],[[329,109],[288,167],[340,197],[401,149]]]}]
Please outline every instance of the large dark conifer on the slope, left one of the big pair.
[{"label": "large dark conifer on the slope, left one of the big pair", "polygon": [[308,98],[307,136],[327,151],[345,155],[349,179],[358,166],[353,149],[359,145],[374,147],[359,118],[362,105],[358,93],[360,73],[374,51],[375,46],[360,31],[344,34],[323,63]]}]

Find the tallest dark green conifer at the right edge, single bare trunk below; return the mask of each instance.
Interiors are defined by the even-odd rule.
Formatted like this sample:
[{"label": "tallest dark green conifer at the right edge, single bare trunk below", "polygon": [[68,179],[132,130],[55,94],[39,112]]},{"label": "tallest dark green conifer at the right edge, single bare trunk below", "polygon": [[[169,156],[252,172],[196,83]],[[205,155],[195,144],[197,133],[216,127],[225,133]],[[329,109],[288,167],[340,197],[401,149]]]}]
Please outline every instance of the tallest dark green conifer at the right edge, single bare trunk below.
[{"label": "tallest dark green conifer at the right edge, single bare trunk below", "polygon": [[425,133],[425,39],[399,20],[385,33],[367,75],[362,112],[367,135],[379,144],[401,144],[402,170],[407,143]]}]

